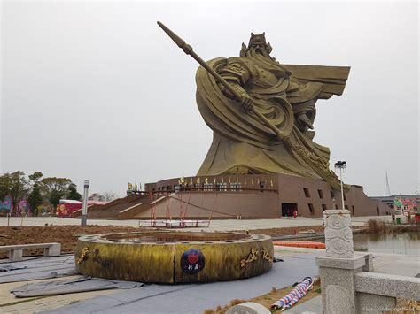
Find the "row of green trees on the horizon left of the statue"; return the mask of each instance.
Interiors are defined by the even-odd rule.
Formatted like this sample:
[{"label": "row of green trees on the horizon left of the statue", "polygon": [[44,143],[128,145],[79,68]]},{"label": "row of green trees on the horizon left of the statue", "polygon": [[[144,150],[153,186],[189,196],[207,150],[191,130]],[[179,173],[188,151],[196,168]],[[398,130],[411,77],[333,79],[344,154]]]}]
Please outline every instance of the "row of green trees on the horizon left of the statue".
[{"label": "row of green trees on the horizon left of the statue", "polygon": [[72,180],[43,178],[42,172],[34,172],[28,176],[28,180],[21,171],[0,175],[0,201],[8,195],[12,196],[14,203],[27,200],[33,210],[43,204],[43,201],[48,201],[56,207],[62,198],[78,201],[82,199]]}]

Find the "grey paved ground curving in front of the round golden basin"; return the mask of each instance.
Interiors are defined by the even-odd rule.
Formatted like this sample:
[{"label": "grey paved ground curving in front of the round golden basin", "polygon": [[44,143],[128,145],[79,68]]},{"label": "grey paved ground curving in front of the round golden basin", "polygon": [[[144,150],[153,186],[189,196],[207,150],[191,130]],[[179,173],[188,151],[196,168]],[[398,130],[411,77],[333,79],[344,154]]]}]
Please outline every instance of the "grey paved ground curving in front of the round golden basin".
[{"label": "grey paved ground curving in front of the round golden basin", "polygon": [[[277,254],[276,254],[277,256]],[[208,308],[230,303],[233,299],[249,299],[268,293],[272,287],[290,287],[305,276],[315,276],[315,255],[298,254],[284,257],[273,269],[246,280],[231,280],[193,285],[149,285],[128,290],[97,291],[57,295],[41,299],[16,299],[10,288],[25,282],[0,286],[0,313],[202,313]],[[47,257],[41,257],[45,259]],[[35,281],[31,281],[35,282]],[[74,303],[79,300],[80,302]],[[83,301],[84,300],[84,301]],[[23,301],[13,304],[12,302]],[[8,304],[8,305],[6,305]]]}]

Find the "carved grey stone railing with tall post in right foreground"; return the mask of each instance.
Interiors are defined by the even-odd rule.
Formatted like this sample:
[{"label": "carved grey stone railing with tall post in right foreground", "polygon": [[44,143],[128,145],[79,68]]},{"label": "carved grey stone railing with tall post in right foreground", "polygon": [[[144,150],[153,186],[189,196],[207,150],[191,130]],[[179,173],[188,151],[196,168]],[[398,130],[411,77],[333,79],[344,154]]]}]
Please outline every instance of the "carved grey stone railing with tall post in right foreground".
[{"label": "carved grey stone railing with tall post in right foreground", "polygon": [[420,300],[420,279],[373,272],[371,254],[354,254],[350,212],[324,211],[325,256],[316,257],[323,313],[393,310],[396,298]]}]

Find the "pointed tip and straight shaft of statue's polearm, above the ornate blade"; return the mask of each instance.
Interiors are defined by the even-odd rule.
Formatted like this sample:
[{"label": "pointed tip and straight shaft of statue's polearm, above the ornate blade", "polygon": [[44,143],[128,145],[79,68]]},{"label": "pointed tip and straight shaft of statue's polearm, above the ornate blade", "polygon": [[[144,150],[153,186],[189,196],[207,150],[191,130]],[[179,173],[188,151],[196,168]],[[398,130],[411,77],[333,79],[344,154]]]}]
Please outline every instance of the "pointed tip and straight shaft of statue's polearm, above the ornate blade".
[{"label": "pointed tip and straight shaft of statue's polearm, above the ornate blade", "polygon": [[[206,69],[206,71],[208,73],[210,73],[214,76],[214,79],[219,80],[219,82],[221,82],[222,85],[225,88],[227,88],[233,96],[235,96],[237,98],[238,101],[241,101],[242,96],[240,96],[240,94],[237,92],[237,90],[235,88],[232,88],[229,85],[229,83],[226,80],[224,80],[222,78],[222,76],[219,75],[219,73],[215,72],[214,69],[212,69],[209,65],[207,65],[206,62],[201,57],[199,57],[197,53],[195,53],[192,50],[192,47],[187,42],[185,42],[180,36],[175,34],[173,31],[171,31],[169,28],[167,28],[165,25],[163,25],[159,21],[158,21],[158,25],[159,25],[160,28],[163,29],[163,31],[165,33],[167,33],[167,35],[169,37],[172,38],[172,40],[176,43],[176,45],[179,48],[183,49],[183,52],[185,52],[187,55],[190,55],[191,57],[193,57],[201,66],[203,66]],[[278,128],[276,128],[276,126],[273,125],[264,115],[262,115],[262,113],[260,111],[258,111],[257,108],[255,108],[253,106],[253,107],[251,107],[251,111],[253,111],[253,113],[259,119],[261,119],[261,121],[264,122],[264,124],[266,126],[268,126],[268,128],[270,128],[281,140],[285,141],[287,139],[287,134],[284,134]]]}]

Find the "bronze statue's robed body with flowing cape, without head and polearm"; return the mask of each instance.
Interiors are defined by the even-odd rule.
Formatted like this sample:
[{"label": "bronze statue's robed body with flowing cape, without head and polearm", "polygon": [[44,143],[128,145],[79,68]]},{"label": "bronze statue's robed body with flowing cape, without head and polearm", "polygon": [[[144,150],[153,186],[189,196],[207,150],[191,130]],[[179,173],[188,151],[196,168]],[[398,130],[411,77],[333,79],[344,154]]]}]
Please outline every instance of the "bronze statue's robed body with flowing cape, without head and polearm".
[{"label": "bronze statue's robed body with flowing cape, without head and polearm", "polygon": [[[208,62],[237,91],[258,103],[258,110],[309,155],[328,165],[330,150],[312,141],[312,131],[300,130],[296,117],[307,112],[315,119],[315,102],[341,95],[349,67],[280,65],[261,55],[216,58]],[[203,67],[196,75],[198,109],[214,131],[214,139],[198,175],[235,173],[285,173],[325,179],[296,151],[280,141],[252,112],[240,103]]]}]

